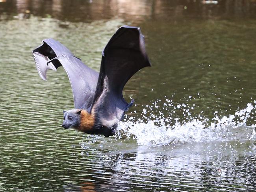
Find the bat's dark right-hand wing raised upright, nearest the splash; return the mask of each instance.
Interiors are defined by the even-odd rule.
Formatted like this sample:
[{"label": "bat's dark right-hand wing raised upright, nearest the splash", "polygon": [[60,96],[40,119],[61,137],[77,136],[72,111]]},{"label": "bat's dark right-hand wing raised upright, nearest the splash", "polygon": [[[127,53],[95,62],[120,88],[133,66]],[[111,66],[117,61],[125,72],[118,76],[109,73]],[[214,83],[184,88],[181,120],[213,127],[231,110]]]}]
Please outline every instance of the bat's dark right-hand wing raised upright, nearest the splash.
[{"label": "bat's dark right-hand wing raised upright, nearest the splash", "polygon": [[123,26],[102,52],[100,75],[91,113],[98,126],[113,126],[130,107],[122,96],[126,82],[141,68],[151,66],[139,28]]}]

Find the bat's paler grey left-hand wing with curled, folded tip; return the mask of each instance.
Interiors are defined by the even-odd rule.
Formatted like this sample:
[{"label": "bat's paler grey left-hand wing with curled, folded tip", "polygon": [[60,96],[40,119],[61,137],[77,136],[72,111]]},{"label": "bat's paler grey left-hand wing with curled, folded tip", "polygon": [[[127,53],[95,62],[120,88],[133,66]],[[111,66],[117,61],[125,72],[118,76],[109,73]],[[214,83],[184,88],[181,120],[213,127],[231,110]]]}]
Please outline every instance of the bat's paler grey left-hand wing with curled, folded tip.
[{"label": "bat's paler grey left-hand wing with curled, folded tip", "polygon": [[45,39],[43,44],[33,50],[39,76],[46,80],[48,69],[57,70],[63,66],[73,91],[76,109],[91,110],[98,81],[98,72],[84,65],[69,49],[54,39]]}]

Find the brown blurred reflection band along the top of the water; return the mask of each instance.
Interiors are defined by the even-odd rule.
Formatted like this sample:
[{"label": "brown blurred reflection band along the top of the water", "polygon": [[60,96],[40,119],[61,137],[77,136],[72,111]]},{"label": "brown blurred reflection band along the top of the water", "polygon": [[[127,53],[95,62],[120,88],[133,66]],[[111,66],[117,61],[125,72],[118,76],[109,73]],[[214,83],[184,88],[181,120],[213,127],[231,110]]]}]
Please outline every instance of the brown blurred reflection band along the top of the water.
[{"label": "brown blurred reflection band along the top of the water", "polygon": [[72,22],[124,18],[133,23],[148,19],[255,17],[253,0],[7,0],[0,3],[0,14],[7,19],[30,11],[35,16]]}]

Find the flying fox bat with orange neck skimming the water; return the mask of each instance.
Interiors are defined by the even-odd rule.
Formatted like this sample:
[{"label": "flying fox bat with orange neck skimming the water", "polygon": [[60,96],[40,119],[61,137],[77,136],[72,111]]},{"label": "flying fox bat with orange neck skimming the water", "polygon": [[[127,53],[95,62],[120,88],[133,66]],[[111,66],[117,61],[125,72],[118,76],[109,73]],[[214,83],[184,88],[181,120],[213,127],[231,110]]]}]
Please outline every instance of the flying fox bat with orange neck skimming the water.
[{"label": "flying fox bat with orange neck skimming the water", "polygon": [[33,50],[39,76],[46,80],[48,69],[63,66],[70,80],[75,109],[63,111],[63,127],[89,134],[113,136],[117,124],[134,100],[122,95],[126,82],[141,68],[151,66],[144,36],[137,27],[122,26],[102,52],[100,72],[89,68],[69,49],[54,39],[45,39]]}]

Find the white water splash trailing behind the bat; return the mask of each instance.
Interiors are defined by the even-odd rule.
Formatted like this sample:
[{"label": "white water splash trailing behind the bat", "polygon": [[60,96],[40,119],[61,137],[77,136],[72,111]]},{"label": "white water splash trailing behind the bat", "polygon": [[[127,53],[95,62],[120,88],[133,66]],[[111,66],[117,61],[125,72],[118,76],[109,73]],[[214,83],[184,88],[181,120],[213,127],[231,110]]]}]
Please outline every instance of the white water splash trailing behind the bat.
[{"label": "white water splash trailing behind the bat", "polygon": [[[190,111],[193,110],[194,105],[188,107],[183,103],[175,106],[171,100],[166,101],[162,107],[157,105],[158,100],[151,106],[146,105],[142,111],[143,119],[132,116],[121,122],[117,130],[117,138],[134,139],[139,145],[148,146],[214,140],[255,140],[256,125],[248,126],[247,122],[254,118],[256,101],[248,103],[245,109],[229,116],[220,117],[215,111],[215,117],[211,120],[200,114],[192,117]],[[174,118],[172,114],[175,111],[171,111],[170,108],[182,112],[185,121],[180,122],[178,117]],[[159,115],[156,115],[156,109]],[[161,110],[169,111],[168,117],[164,117]]]}]

